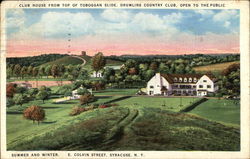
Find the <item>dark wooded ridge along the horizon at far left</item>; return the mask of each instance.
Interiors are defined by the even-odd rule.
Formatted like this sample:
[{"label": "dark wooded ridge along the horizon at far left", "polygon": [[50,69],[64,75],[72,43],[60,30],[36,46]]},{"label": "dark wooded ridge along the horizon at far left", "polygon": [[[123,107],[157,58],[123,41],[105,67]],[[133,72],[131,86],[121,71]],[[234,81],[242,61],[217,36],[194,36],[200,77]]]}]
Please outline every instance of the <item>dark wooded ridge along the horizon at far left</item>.
[{"label": "dark wooded ridge along the horizon at far left", "polygon": [[44,63],[55,61],[57,59],[69,56],[67,54],[43,54],[39,56],[30,56],[30,57],[10,57],[6,58],[7,65],[10,64],[19,64],[21,66],[39,66]]}]

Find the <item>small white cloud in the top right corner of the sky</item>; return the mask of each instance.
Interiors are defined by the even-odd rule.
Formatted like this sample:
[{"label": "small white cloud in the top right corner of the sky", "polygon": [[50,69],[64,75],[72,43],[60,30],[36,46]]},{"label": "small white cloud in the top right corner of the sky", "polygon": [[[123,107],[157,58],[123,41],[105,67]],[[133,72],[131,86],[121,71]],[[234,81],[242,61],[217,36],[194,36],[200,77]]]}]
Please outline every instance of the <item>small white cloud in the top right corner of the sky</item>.
[{"label": "small white cloud in the top right corner of the sky", "polygon": [[213,16],[215,22],[224,22],[239,17],[236,10],[222,10]]}]

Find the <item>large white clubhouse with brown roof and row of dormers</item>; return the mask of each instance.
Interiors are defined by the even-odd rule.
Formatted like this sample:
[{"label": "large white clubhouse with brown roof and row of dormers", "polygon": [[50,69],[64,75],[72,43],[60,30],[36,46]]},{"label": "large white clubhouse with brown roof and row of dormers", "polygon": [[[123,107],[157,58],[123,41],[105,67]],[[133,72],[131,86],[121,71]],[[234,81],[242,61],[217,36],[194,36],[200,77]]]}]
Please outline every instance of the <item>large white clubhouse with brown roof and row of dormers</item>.
[{"label": "large white clubhouse with brown roof and row of dormers", "polygon": [[217,90],[216,79],[210,75],[156,73],[147,83],[148,95],[206,96]]}]

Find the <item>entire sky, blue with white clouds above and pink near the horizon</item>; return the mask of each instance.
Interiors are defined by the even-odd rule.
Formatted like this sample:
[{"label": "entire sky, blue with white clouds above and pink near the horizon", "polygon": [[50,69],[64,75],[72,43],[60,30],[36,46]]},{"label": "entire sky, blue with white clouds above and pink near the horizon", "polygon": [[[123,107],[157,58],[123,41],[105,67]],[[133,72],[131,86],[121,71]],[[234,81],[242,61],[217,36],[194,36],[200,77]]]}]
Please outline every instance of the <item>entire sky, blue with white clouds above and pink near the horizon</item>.
[{"label": "entire sky, blue with white clouds above and pink near the horizon", "polygon": [[8,9],[7,57],[239,53],[239,10]]}]

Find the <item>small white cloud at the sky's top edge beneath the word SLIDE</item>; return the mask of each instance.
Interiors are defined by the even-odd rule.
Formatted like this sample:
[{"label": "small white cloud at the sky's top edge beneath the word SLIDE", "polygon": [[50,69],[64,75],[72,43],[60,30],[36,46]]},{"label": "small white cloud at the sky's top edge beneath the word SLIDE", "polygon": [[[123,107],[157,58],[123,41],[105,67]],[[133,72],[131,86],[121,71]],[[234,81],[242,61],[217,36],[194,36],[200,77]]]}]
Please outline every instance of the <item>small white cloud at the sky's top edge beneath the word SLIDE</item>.
[{"label": "small white cloud at the sky's top edge beneath the word SLIDE", "polygon": [[128,22],[131,19],[131,13],[119,9],[106,9],[101,14],[102,18],[111,22]]}]

